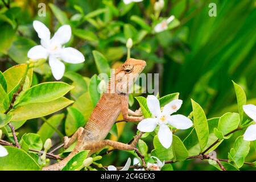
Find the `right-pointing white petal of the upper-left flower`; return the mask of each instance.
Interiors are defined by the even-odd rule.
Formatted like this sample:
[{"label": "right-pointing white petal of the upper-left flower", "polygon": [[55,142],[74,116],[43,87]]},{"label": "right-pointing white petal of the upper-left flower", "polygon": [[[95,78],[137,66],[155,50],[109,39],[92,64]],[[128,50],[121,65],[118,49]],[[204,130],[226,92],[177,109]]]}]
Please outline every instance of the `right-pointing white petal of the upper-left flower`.
[{"label": "right-pointing white petal of the upper-left flower", "polygon": [[60,51],[60,57],[63,61],[72,64],[82,63],[85,61],[84,55],[72,47],[62,48]]}]

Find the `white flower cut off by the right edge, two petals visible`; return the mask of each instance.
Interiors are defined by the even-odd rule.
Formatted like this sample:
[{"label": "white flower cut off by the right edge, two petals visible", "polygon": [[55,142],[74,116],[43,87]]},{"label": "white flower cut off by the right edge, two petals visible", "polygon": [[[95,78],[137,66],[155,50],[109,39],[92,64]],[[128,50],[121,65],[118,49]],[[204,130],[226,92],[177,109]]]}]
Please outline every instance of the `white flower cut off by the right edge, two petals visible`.
[{"label": "white flower cut off by the right edge, two petals visible", "polygon": [[[243,111],[256,122],[256,106],[249,104],[243,106]],[[256,124],[250,125],[247,127],[243,139],[246,141],[256,140]]]}]

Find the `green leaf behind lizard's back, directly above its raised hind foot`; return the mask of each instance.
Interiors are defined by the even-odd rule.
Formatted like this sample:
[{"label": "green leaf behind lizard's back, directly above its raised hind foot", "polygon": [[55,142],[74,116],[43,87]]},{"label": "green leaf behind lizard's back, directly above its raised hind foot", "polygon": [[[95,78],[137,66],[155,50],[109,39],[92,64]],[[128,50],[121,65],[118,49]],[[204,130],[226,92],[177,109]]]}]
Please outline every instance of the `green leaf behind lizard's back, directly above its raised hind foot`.
[{"label": "green leaf behind lizard's back, directly above its raised hind foot", "polygon": [[65,133],[66,134],[72,134],[74,133],[79,127],[84,127],[86,125],[84,115],[76,109],[76,107],[68,107],[68,114],[72,117],[71,122],[65,122]]}]

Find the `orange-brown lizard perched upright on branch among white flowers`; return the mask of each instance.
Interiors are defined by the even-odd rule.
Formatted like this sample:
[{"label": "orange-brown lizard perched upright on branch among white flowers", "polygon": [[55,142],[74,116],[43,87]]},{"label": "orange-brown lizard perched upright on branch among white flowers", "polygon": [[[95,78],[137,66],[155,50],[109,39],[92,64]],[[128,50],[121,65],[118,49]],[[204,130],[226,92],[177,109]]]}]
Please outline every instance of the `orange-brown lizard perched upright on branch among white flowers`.
[{"label": "orange-brown lizard perched upright on branch among white flowers", "polygon": [[117,150],[135,150],[139,155],[136,146],[143,133],[135,136],[131,144],[105,138],[120,113],[126,122],[139,122],[144,119],[140,111],[129,109],[129,92],[127,92],[134,85],[144,67],[146,67],[146,61],[130,58],[120,68],[115,69],[114,74],[110,76],[106,92],[102,94],[85,127],[80,127],[71,138],[64,137],[64,148],[68,148],[77,140],[73,151],[59,163],[43,167],[43,171],[61,170],[73,156],[82,150],[90,150],[88,157],[107,146]]}]

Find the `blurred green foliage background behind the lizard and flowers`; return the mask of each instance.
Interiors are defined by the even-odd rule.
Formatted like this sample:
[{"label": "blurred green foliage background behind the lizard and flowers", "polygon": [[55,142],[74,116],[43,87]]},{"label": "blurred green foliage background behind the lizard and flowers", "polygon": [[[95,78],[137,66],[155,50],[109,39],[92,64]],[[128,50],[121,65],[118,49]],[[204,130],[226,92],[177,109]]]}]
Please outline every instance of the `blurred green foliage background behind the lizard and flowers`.
[{"label": "blurred green foliage background behind the lizard and flowers", "polygon": [[[174,24],[170,30],[155,34],[152,30],[160,19],[152,18],[153,0],[129,5],[114,0],[16,0],[10,1],[9,8],[0,1],[0,70],[3,72],[11,65],[26,62],[28,49],[39,44],[32,27],[32,21],[37,19],[44,22],[52,33],[61,24],[71,24],[73,36],[67,46],[79,49],[86,61],[77,65],[66,64],[67,71],[85,77],[97,74],[93,50],[101,52],[109,65],[116,68],[125,61],[125,44],[128,38],[132,38],[134,47],[131,49],[131,57],[147,61],[146,73],[159,73],[160,96],[180,93],[184,101],[180,113],[188,115],[191,112],[191,98],[204,108],[208,118],[220,117],[227,111],[237,111],[232,80],[245,89],[247,102],[256,104],[256,1],[164,2],[160,17],[175,15],[179,23]],[[217,5],[216,17],[208,15],[211,2]],[[45,3],[46,16],[38,15],[39,3]],[[35,72],[34,83],[54,80],[47,65]],[[63,81],[70,82],[67,78]],[[73,100],[76,98],[73,97]],[[138,103],[134,101],[132,107],[137,109]],[[36,133],[40,125],[41,122],[34,119],[18,131],[21,134]],[[64,127],[63,121],[59,127],[63,135]],[[118,140],[129,142],[136,132],[136,125],[122,124],[118,130]],[[176,134],[184,139],[188,133],[189,130]],[[55,138],[56,141],[60,140],[57,135]],[[218,147],[218,158],[227,159],[234,139],[236,135]],[[152,148],[152,138],[147,138],[146,142]],[[129,155],[129,152],[113,152],[102,163],[119,166]],[[255,158],[255,152],[251,151],[246,161]],[[200,160],[173,166],[180,170],[215,169]],[[245,166],[242,169],[255,168]]]}]

